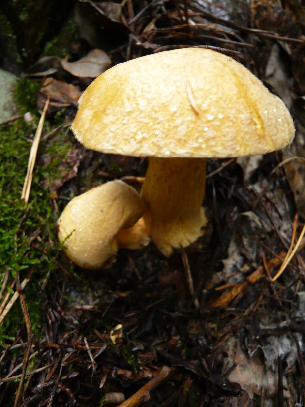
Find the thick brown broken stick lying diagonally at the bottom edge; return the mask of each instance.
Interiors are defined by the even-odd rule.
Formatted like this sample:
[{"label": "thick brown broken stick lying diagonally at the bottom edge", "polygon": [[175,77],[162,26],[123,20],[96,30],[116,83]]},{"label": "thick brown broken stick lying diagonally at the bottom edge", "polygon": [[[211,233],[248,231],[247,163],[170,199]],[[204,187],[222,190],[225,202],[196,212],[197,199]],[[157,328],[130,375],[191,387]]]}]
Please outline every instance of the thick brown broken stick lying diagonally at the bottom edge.
[{"label": "thick brown broken stick lying diagonally at the bottom edge", "polygon": [[146,383],[140,390],[134,393],[129,399],[125,400],[117,407],[134,407],[138,406],[140,403],[148,401],[150,399],[150,391],[156,388],[163,380],[168,379],[172,376],[176,370],[174,368],[169,368],[168,366],[163,366],[160,370],[158,376],[154,377],[148,383]]}]

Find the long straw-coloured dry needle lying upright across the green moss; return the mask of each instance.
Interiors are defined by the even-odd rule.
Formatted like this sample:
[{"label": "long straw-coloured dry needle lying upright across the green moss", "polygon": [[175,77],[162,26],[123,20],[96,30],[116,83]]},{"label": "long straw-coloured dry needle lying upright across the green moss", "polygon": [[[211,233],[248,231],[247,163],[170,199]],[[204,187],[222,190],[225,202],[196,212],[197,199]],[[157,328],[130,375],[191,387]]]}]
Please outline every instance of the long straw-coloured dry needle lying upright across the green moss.
[{"label": "long straw-coloured dry needle lying upright across the green moss", "polygon": [[33,171],[34,171],[34,166],[35,166],[35,161],[37,157],[37,151],[38,151],[38,146],[40,142],[40,137],[46,117],[46,113],[49,107],[50,103],[50,97],[48,97],[46,104],[44,106],[43,112],[41,114],[39,124],[36,130],[35,137],[33,139],[32,147],[30,149],[30,157],[29,157],[29,163],[28,163],[28,170],[27,170],[27,175],[25,178],[25,182],[23,185],[22,189],[22,194],[21,194],[21,199],[24,199],[25,203],[27,204],[29,202],[29,196],[30,196],[30,187],[32,184],[32,179],[33,179]]}]

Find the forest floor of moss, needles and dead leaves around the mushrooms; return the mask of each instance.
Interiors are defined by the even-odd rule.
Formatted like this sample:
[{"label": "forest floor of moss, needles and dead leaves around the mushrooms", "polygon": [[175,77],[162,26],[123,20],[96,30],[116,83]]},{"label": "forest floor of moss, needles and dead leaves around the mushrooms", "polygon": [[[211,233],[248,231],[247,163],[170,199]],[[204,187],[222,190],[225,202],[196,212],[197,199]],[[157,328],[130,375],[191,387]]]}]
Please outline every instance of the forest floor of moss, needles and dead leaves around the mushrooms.
[{"label": "forest floor of moss, needles and dead leaves around the mushrooms", "polygon": [[[304,8],[215,3],[81,4],[91,13],[80,24],[117,36],[120,45],[107,50],[113,65],[217,47],[294,119],[284,151],[208,160],[206,232],[169,258],[150,243],[89,271],[61,250],[56,223],[71,198],[114,179],[139,190],[147,168],[145,158],[86,150],[70,131],[79,95],[105,63],[77,64],[90,38],[73,45],[69,61],[50,54],[18,81],[21,117],[0,124],[0,406],[305,405]],[[30,147],[47,100],[26,204]]]}]

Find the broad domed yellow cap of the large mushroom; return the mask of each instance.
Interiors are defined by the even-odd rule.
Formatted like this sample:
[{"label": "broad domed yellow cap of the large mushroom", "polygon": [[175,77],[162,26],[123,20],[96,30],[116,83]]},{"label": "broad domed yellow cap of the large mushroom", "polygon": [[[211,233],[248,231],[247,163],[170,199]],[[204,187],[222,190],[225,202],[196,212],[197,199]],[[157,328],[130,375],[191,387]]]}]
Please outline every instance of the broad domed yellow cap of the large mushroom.
[{"label": "broad domed yellow cap of the large mushroom", "polygon": [[72,124],[87,148],[154,157],[238,157],[294,136],[284,102],[242,64],[184,48],[118,64],[79,99]]}]

